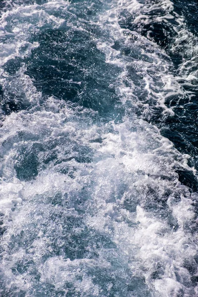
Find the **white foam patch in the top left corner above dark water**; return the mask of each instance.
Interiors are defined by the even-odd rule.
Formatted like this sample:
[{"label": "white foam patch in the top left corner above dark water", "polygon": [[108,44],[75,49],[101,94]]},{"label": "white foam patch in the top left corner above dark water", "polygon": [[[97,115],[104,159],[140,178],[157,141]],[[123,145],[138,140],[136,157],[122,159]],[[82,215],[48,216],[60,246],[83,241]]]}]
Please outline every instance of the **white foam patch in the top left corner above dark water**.
[{"label": "white foam patch in the top left corner above dark water", "polygon": [[[62,1],[64,8],[68,3]],[[49,3],[55,8],[55,3]],[[47,5],[47,4],[46,4]],[[62,7],[59,3],[58,8]],[[50,5],[47,5],[50,8]],[[31,51],[39,46],[38,43],[30,43],[29,38],[33,32],[37,33],[42,27],[60,27],[65,20],[50,14],[51,10],[45,9],[45,5],[16,6],[2,13],[0,28],[4,35],[9,34],[8,42],[0,43],[0,66],[15,57],[25,58]],[[54,12],[54,11],[53,11]],[[2,34],[1,34],[2,35]]]}]

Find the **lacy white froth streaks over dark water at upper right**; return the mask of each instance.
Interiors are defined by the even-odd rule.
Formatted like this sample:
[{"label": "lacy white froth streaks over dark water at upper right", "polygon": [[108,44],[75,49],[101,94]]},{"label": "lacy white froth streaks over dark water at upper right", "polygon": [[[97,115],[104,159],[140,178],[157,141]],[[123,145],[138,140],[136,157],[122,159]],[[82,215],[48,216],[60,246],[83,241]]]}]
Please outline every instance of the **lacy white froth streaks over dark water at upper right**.
[{"label": "lacy white froth streaks over dark water at upper right", "polygon": [[[155,11],[163,11],[163,16],[158,16]],[[124,15],[122,13],[124,11]],[[132,17],[132,20],[130,19]],[[136,25],[139,30],[124,28],[120,26],[122,23]],[[149,114],[149,110],[152,113],[152,104],[161,106],[164,113],[174,114],[174,107],[168,107],[165,101],[173,96],[178,96],[178,104],[181,98],[188,97],[189,102],[195,94],[191,91],[186,91],[184,86],[195,86],[197,82],[197,38],[188,30],[185,19],[179,16],[174,11],[173,2],[147,1],[145,4],[138,1],[120,0],[112,4],[108,12],[104,13],[101,17],[101,27],[105,24],[105,28],[109,28],[109,36],[105,43],[99,44],[99,48],[103,48],[107,54],[107,62],[116,63],[123,68],[123,72],[120,77],[120,89],[123,94],[123,99],[133,98],[136,100],[134,89],[138,86],[134,85],[133,80],[128,81],[130,70],[136,69],[137,73],[143,75],[143,86],[147,92],[146,99],[139,102],[136,100],[136,104],[144,105],[144,109]],[[174,20],[175,23],[170,21]],[[141,34],[141,28],[148,24],[160,24],[164,22],[168,24],[170,30],[176,33],[176,37],[170,37],[169,51],[172,53],[180,52],[182,56],[182,63],[177,73],[173,72],[174,65],[169,55],[165,50],[161,49],[153,38],[149,36],[151,31],[148,31],[147,36]],[[119,50],[112,49],[114,43],[119,42]],[[139,54],[133,53],[133,49],[136,48]],[[123,56],[122,51],[130,49],[130,56]],[[181,83],[181,80],[184,81]],[[126,88],[127,81],[130,87]],[[123,89],[122,89],[122,85]],[[150,104],[151,101],[151,104]],[[148,103],[149,102],[149,103]]]}]

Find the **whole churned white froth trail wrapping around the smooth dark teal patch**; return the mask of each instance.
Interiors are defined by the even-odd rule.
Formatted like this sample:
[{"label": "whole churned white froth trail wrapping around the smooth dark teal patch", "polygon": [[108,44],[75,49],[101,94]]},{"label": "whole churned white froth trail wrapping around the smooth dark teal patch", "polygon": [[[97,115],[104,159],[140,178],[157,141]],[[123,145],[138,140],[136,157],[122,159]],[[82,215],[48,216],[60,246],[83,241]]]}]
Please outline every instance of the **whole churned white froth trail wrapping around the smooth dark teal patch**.
[{"label": "whole churned white froth trail wrapping around the smooth dark teal patch", "polygon": [[[0,293],[196,297],[197,195],[179,182],[175,171],[195,170],[187,164],[188,155],[136,115],[141,109],[149,116],[156,104],[164,113],[173,113],[165,99],[183,96],[184,90],[163,50],[120,27],[121,12],[134,15],[135,23],[148,23],[153,21],[149,9],[157,7],[165,13],[156,21],[183,20],[169,0],[104,5],[97,21],[103,35],[93,40],[106,63],[120,69],[114,84],[126,112],[120,123],[93,122],[97,112],[71,108],[53,97],[40,106],[42,93],[25,74],[25,65],[15,76],[3,69],[8,60],[24,59],[39,47],[31,41],[33,34],[67,22],[64,13],[58,17],[57,12],[69,7],[72,3],[62,0],[16,5],[0,20],[5,37],[0,83],[4,92],[19,88],[29,101],[27,110],[6,115],[0,128]],[[85,21],[79,21],[84,28]],[[127,49],[129,55],[124,54]],[[142,77],[138,83],[136,75]],[[189,80],[195,73],[184,75]],[[38,174],[20,180],[16,168],[29,156],[37,159]]]}]

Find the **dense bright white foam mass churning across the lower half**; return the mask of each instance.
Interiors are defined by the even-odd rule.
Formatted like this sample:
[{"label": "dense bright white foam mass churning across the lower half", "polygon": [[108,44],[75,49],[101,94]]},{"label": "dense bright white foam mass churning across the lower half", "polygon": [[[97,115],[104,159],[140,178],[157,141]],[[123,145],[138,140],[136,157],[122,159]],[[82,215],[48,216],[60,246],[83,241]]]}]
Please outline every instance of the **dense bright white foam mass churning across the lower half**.
[{"label": "dense bright white foam mass churning across the lower half", "polygon": [[[137,206],[137,214],[136,209],[130,213],[124,208],[126,199],[131,196],[134,203],[144,205],[144,199],[147,199],[147,196],[144,198],[144,188],[147,189],[149,185],[158,187],[157,195],[162,195],[165,189],[168,188],[172,193],[179,191],[188,196],[188,189],[180,185],[177,174],[172,169],[175,164],[183,166],[180,160],[184,157],[173,148],[168,140],[160,136],[157,128],[144,121],[136,120],[130,122],[125,119],[125,122],[122,124],[110,122],[103,127],[84,126],[83,128],[76,121],[76,117],[72,118],[73,113],[66,106],[65,112],[62,109],[59,113],[38,111],[30,115],[21,111],[7,117],[4,127],[1,128],[6,132],[3,139],[4,144],[6,144],[6,139],[9,139],[7,145],[4,145],[5,154],[4,156],[2,155],[4,159],[3,175],[6,174],[6,170],[10,171],[9,175],[7,175],[10,182],[7,184],[3,182],[2,184],[2,187],[5,187],[2,197],[9,199],[10,203],[13,197],[15,201],[20,202],[20,199],[24,201],[24,206],[21,207],[21,210],[19,208],[16,215],[12,216],[13,224],[18,226],[18,232],[20,233],[20,230],[23,230],[30,220],[31,213],[33,214],[36,211],[35,206],[31,206],[31,201],[36,202],[37,199],[40,199],[39,197],[48,198],[58,192],[62,194],[66,192],[69,209],[75,215],[76,198],[85,186],[89,189],[92,184],[89,190],[91,199],[87,200],[84,205],[87,226],[110,237],[116,244],[120,256],[122,255],[126,262],[131,259],[129,269],[134,271],[134,276],[145,276],[146,284],[150,290],[153,290],[154,286],[156,292],[167,297],[170,294],[169,292],[177,292],[179,288],[182,288],[186,294],[188,292],[193,294],[193,291],[188,291],[190,289],[186,288],[181,282],[178,283],[174,277],[177,270],[179,275],[185,273],[185,280],[189,278],[187,269],[185,271],[182,270],[183,261],[190,254],[194,256],[196,253],[196,247],[192,245],[190,235],[183,230],[185,221],[188,222],[194,215],[190,197],[182,198],[181,194],[180,202],[174,201],[173,197],[172,200],[170,198],[169,210],[172,211],[172,215],[179,224],[179,229],[176,232],[171,231],[168,223],[164,222],[163,219],[154,218],[152,213],[147,213],[141,206]],[[79,129],[79,127],[81,128]],[[138,130],[131,131],[134,127]],[[29,140],[27,139],[26,143],[17,137],[19,131],[20,133],[23,132],[24,135],[29,135]],[[93,136],[96,137],[97,134],[102,137],[102,143],[90,143],[89,140],[93,139]],[[32,182],[23,182],[21,184],[15,177],[10,175],[14,172],[11,160],[13,160],[13,156],[21,146],[31,144],[34,139],[37,143],[45,143],[49,139],[54,141],[66,135],[72,142],[95,149],[95,154],[99,152],[99,160],[93,161],[91,164],[78,163],[75,159],[67,161],[67,165],[70,165],[71,168],[76,168],[73,178],[58,173],[61,164],[54,167],[54,169],[56,168],[56,172],[54,172],[53,161],[49,163],[46,169],[42,169],[36,180]],[[11,145],[12,143],[13,145]],[[57,148],[59,151],[58,159],[60,160],[64,156],[64,147],[65,143],[63,142]],[[45,154],[39,154],[40,162],[42,162],[44,157]],[[172,181],[161,180],[162,172],[163,175],[172,176]],[[127,185],[127,189],[124,191],[124,194],[120,194],[119,192],[123,184]],[[38,198],[36,198],[37,196]],[[140,202],[138,202],[139,199]],[[152,199],[152,195],[149,196],[149,199]],[[1,201],[3,202],[3,200]],[[65,202],[65,200],[63,201]],[[6,207],[8,206],[12,207],[11,204],[6,204]],[[186,209],[185,213],[183,213],[184,208]],[[127,221],[138,227],[130,227]],[[9,240],[13,232],[15,231],[8,229],[3,240],[5,242]],[[31,248],[33,250],[36,248],[36,258],[40,261],[39,259],[46,250],[45,243],[36,241]],[[21,257],[23,257],[22,254]],[[100,251],[100,257],[101,261],[107,261],[105,251]],[[163,274],[160,280],[152,280],[151,278],[151,274],[154,271],[152,264],[156,259],[162,265]],[[6,263],[7,261],[5,260],[5,265],[7,265]],[[68,263],[74,265],[75,262],[69,261]],[[44,266],[41,266],[40,262],[38,262],[37,265],[41,270],[42,282],[49,280],[57,288],[62,288],[65,280],[67,280],[72,282],[75,288],[82,288],[83,286],[85,292],[92,292],[92,290],[98,292],[99,288],[93,284],[85,269],[79,273],[81,276],[83,273],[86,285],[84,283],[79,283],[78,285],[75,278],[76,273],[71,275],[70,268],[67,268],[69,267],[67,266],[68,263],[59,258],[50,258]],[[91,263],[87,262],[86,265],[90,267]],[[9,265],[13,265],[13,262]],[[95,266],[96,263],[94,264]],[[61,267],[64,269],[61,269]],[[10,277],[15,285],[17,284],[21,289],[25,288],[24,284],[19,285],[20,281],[14,275],[9,275]],[[29,286],[31,286],[30,279],[29,282]],[[168,291],[164,291],[165,285],[169,286]]]}]

